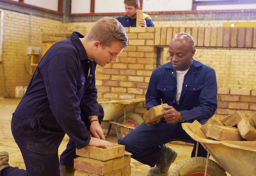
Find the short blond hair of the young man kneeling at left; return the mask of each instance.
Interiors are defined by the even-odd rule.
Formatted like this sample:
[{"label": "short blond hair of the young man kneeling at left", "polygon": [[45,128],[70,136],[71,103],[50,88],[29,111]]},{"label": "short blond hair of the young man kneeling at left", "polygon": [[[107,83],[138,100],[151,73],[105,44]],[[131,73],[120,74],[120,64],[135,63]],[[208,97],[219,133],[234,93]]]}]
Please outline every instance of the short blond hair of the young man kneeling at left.
[{"label": "short blond hair of the young man kneeling at left", "polygon": [[100,41],[102,47],[108,47],[113,41],[119,42],[120,46],[126,48],[128,46],[128,37],[124,27],[115,18],[104,17],[99,19],[87,34],[90,41]]}]

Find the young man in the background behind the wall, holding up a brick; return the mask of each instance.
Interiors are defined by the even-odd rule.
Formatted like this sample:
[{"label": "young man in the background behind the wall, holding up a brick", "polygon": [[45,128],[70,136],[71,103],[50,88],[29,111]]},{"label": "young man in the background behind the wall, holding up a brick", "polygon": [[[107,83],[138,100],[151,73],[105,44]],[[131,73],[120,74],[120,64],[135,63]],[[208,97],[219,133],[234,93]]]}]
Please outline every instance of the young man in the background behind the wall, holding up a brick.
[{"label": "young man in the background behind the wall, holding up a brick", "polygon": [[[124,7],[126,15],[118,17],[117,20],[124,27],[136,27],[137,10],[139,10],[139,0],[124,0]],[[154,27],[151,17],[143,13],[143,18],[139,20],[142,27]]]}]

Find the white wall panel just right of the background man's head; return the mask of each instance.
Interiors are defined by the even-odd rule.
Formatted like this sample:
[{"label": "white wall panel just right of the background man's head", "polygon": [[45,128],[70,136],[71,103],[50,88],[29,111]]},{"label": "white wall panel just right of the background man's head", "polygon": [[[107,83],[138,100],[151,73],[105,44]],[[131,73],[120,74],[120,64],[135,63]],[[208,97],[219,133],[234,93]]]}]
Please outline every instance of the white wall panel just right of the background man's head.
[{"label": "white wall panel just right of the background man's head", "polygon": [[143,0],[143,11],[191,11],[192,0]]}]

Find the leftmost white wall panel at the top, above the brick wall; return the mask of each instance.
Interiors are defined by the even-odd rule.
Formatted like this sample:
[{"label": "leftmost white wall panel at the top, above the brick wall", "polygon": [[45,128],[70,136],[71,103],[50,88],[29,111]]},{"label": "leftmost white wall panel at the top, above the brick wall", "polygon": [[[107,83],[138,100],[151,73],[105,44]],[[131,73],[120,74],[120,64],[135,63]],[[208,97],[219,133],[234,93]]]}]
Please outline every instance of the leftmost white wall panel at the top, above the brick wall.
[{"label": "leftmost white wall panel at the top, above the brick wall", "polygon": [[58,11],[58,0],[24,0],[25,4]]}]

